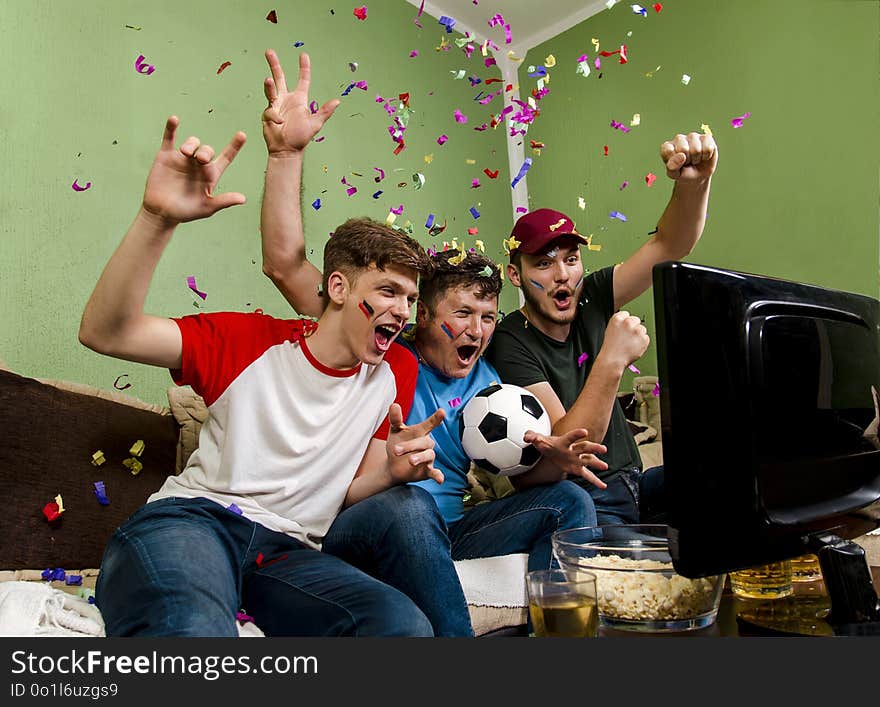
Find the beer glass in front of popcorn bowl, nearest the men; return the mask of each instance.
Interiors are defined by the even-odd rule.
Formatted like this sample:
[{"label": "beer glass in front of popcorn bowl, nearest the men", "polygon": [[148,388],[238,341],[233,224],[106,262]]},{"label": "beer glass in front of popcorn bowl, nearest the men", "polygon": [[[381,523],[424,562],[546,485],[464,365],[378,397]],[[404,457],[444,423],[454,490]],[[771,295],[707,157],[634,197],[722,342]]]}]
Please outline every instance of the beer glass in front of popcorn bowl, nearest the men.
[{"label": "beer glass in front of popcorn bowl, nearest the men", "polygon": [[529,616],[539,638],[595,638],[599,635],[596,575],[563,569],[526,574]]}]

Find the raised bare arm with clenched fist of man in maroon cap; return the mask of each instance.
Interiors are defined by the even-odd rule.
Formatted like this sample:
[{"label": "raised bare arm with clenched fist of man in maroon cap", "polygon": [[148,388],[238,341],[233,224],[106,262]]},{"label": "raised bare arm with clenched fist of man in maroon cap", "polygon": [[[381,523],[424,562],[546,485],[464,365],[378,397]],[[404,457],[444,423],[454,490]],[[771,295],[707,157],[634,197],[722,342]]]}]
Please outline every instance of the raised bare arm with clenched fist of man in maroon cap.
[{"label": "raised bare arm with clenched fist of man in maroon cap", "polygon": [[657,222],[657,232],[614,270],[614,309],[624,307],[651,286],[654,265],[681,260],[703,233],[709,187],[718,164],[718,147],[710,135],[676,135],[660,147],[666,176],[675,183]]}]

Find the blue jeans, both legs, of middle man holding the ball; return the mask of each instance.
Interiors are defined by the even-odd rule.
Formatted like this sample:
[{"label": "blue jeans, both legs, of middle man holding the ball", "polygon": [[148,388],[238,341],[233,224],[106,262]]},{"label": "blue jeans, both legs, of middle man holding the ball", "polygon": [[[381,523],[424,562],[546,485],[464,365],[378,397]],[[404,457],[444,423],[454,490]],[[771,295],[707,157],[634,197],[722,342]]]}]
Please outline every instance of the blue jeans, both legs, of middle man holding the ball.
[{"label": "blue jeans, both legs, of middle man holding the ball", "polygon": [[453,560],[525,552],[529,569],[555,566],[550,536],[595,522],[589,494],[563,481],[475,506],[447,531],[431,494],[406,485],[345,509],[323,549],[401,590],[425,613],[435,635],[472,636]]}]

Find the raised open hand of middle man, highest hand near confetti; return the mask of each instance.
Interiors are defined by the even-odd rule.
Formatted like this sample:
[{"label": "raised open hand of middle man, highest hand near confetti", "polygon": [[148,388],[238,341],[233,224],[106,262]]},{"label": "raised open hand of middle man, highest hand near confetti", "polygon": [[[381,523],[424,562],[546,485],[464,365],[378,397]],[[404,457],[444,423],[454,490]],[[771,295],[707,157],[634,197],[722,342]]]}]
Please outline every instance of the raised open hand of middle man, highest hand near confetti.
[{"label": "raised open hand of middle man, highest hand near confetti", "polygon": [[309,108],[309,84],[311,83],[311,64],[309,55],[299,55],[299,79],[293,91],[287,90],[287,80],[281,62],[273,49],[266,50],[271,77],[263,82],[263,91],[269,106],[263,111],[263,138],[269,154],[283,154],[304,150],[311,139],[318,134],[333,111],[339,99],[327,101],[317,112]]}]

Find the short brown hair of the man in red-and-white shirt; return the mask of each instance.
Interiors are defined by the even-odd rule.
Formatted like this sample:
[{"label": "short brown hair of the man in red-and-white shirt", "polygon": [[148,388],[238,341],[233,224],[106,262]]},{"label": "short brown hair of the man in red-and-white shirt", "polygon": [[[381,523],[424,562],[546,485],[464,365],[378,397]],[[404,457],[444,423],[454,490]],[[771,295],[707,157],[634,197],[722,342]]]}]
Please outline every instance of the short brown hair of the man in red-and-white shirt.
[{"label": "short brown hair of the man in red-and-white shirt", "polygon": [[422,279],[430,277],[431,259],[417,240],[370,218],[350,218],[324,246],[324,277],[321,297],[329,302],[327,280],[341,272],[354,285],[358,275],[371,265],[379,270],[388,266],[414,270]]}]

